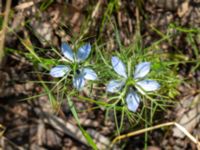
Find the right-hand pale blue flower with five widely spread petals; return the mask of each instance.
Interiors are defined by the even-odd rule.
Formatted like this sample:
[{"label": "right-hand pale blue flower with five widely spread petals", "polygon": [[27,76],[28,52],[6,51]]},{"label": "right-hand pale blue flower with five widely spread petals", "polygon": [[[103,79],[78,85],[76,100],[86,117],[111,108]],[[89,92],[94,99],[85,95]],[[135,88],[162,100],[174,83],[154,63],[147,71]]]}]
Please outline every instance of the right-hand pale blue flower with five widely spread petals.
[{"label": "right-hand pale blue flower with five widely spread petals", "polygon": [[[116,56],[111,59],[112,67],[115,72],[121,77],[119,80],[111,80],[106,88],[107,92],[116,93],[122,90],[128,75],[126,72],[125,64]],[[142,62],[136,65],[135,71],[133,73],[133,79],[135,82],[135,88],[141,93],[146,94],[147,92],[152,92],[160,88],[160,84],[154,80],[144,79],[144,77],[150,71],[150,62]],[[139,107],[140,97],[132,88],[129,89],[126,95],[127,107],[130,111],[135,112]]]}]

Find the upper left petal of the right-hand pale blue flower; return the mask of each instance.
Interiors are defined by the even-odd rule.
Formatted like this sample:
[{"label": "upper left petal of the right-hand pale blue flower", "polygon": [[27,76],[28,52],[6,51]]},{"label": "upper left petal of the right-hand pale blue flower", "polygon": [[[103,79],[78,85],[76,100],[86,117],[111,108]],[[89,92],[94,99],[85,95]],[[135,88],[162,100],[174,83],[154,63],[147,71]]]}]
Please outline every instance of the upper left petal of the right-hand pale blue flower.
[{"label": "upper left petal of the right-hand pale blue flower", "polygon": [[117,74],[127,78],[126,66],[124,65],[124,63],[116,56],[112,57],[111,62],[112,62],[112,66],[113,66],[113,69],[115,70],[115,72]]}]

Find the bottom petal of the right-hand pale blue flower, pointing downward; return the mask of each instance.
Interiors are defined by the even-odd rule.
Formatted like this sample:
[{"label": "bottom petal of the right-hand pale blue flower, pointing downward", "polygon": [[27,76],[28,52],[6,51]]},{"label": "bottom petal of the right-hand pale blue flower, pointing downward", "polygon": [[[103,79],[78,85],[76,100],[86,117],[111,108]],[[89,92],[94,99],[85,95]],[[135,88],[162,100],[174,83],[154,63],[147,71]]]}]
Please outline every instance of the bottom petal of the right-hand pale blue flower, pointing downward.
[{"label": "bottom petal of the right-hand pale blue flower, pointing downward", "polygon": [[133,90],[131,90],[126,96],[126,103],[130,111],[136,112],[140,104],[140,98]]}]

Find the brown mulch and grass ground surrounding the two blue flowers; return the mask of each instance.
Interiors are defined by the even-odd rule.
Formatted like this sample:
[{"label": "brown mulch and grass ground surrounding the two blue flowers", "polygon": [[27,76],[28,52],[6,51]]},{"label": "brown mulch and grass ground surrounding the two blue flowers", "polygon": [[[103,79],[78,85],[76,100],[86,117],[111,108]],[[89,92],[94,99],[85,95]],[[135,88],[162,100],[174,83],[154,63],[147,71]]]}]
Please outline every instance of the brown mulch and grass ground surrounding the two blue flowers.
[{"label": "brown mulch and grass ground surrounding the two blue flowers", "polygon": [[[5,2],[0,1],[1,22]],[[114,51],[117,45],[113,26],[118,29],[122,45],[134,43],[139,31],[143,47],[159,41],[153,48],[162,49],[168,54],[166,57],[179,62],[177,76],[182,82],[174,98],[177,104],[167,109],[154,125],[176,121],[200,139],[200,0],[15,0],[10,6],[5,56],[0,68],[1,149],[89,148],[68,104],[63,102],[59,109],[53,108],[49,97],[41,94],[45,90],[37,82],[41,80],[37,72],[43,69],[28,59],[29,50],[22,41],[42,49],[59,49],[62,41],[84,34],[91,43],[103,39],[105,49]],[[38,53],[52,56],[48,52]],[[48,75],[42,78],[51,80]],[[80,110],[91,106],[74,101]],[[79,118],[99,149],[108,149],[115,137],[115,124],[109,119],[105,121],[104,109],[82,111]],[[148,150],[197,149],[173,125],[149,132],[148,142],[144,140],[144,134],[129,137],[112,149],[144,149],[145,144]]]}]

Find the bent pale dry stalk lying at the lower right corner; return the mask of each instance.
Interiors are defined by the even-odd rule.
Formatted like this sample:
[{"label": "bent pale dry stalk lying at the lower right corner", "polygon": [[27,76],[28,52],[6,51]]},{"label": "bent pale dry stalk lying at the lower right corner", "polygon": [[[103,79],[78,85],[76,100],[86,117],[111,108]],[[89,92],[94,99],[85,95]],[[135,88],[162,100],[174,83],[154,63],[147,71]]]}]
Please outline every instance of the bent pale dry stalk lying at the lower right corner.
[{"label": "bent pale dry stalk lying at the lower right corner", "polygon": [[156,125],[156,126],[153,126],[153,127],[149,127],[149,128],[145,128],[145,129],[141,129],[141,130],[137,130],[137,131],[134,131],[134,132],[130,132],[130,133],[127,133],[127,134],[117,136],[112,141],[112,145],[114,143],[116,143],[117,141],[128,138],[128,137],[136,136],[136,135],[148,132],[148,131],[152,131],[152,130],[155,130],[155,129],[159,129],[159,128],[166,127],[166,126],[172,126],[172,125],[175,125],[180,131],[182,131],[193,143],[196,144],[197,149],[200,150],[200,141],[198,141],[183,126],[181,126],[180,124],[178,124],[176,122],[167,122],[167,123],[159,124],[159,125]]}]

